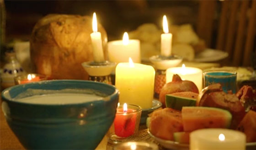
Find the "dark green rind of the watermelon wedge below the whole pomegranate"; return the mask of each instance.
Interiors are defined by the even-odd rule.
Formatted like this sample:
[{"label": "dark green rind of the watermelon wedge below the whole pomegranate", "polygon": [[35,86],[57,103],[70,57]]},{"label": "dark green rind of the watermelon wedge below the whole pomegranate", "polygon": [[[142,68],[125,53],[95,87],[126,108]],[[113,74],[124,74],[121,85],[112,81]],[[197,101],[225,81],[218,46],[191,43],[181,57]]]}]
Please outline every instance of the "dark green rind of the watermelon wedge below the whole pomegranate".
[{"label": "dark green rind of the watermelon wedge below the whole pomegranate", "polygon": [[184,106],[195,106],[197,100],[187,97],[165,95],[165,106],[175,110],[181,110]]}]

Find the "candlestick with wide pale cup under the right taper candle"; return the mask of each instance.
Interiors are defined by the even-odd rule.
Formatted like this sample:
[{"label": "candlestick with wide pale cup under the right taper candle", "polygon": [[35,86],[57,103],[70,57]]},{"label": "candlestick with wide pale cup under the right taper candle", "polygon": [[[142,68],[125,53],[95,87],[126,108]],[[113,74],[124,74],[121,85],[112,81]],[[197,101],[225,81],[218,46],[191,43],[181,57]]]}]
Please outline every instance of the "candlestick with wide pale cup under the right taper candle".
[{"label": "candlestick with wide pale cup under the right taper candle", "polygon": [[171,67],[176,67],[182,61],[182,58],[176,55],[161,56],[154,55],[149,60],[155,65],[155,88],[154,97],[159,99],[159,94],[166,81],[166,70]]}]

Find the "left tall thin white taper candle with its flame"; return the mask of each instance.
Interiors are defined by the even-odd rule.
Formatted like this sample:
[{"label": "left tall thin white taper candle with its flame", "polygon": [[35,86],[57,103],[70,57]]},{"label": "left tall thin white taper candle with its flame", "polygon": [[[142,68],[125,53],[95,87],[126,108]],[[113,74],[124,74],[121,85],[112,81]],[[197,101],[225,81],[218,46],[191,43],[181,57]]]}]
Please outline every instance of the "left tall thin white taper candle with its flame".
[{"label": "left tall thin white taper candle with its flame", "polygon": [[101,33],[98,32],[96,13],[93,13],[92,17],[92,30],[91,33],[91,44],[93,49],[93,58],[95,62],[103,62],[104,54],[102,49]]}]

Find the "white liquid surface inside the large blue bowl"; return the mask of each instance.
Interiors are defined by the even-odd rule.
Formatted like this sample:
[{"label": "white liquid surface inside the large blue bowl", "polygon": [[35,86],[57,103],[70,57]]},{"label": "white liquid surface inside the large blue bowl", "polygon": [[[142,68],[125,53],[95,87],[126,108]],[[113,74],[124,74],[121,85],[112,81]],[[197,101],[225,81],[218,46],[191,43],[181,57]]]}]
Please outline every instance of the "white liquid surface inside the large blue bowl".
[{"label": "white liquid surface inside the large blue bowl", "polygon": [[46,95],[34,95],[16,101],[30,104],[48,104],[48,105],[62,105],[62,104],[77,104],[102,99],[101,96],[91,94],[77,94],[77,93],[56,93]]}]

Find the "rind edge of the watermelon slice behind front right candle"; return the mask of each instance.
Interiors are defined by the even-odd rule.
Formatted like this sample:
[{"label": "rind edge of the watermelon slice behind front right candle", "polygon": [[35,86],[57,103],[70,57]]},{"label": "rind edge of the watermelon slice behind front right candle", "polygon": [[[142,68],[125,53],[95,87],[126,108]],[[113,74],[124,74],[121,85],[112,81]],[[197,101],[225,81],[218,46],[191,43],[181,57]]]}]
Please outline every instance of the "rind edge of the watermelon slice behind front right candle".
[{"label": "rind edge of the watermelon slice behind front right candle", "polygon": [[[218,110],[218,111],[220,111],[220,112],[222,112],[222,113],[225,114],[224,117],[225,117],[225,119],[227,120],[226,122],[228,123],[228,124],[226,125],[226,128],[229,128],[230,125],[231,125],[232,115],[231,115],[231,113],[230,113],[228,110],[224,110],[224,109],[216,108],[216,107],[202,107],[202,106],[200,106],[200,107],[198,107],[198,106],[197,106],[197,107],[193,107],[193,106],[191,106],[191,107],[183,107],[183,109],[186,109],[186,108]],[[181,112],[181,114],[182,114],[182,112]]]}]

